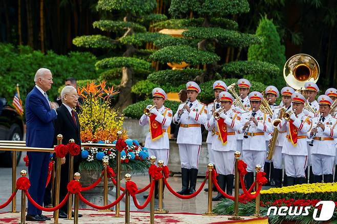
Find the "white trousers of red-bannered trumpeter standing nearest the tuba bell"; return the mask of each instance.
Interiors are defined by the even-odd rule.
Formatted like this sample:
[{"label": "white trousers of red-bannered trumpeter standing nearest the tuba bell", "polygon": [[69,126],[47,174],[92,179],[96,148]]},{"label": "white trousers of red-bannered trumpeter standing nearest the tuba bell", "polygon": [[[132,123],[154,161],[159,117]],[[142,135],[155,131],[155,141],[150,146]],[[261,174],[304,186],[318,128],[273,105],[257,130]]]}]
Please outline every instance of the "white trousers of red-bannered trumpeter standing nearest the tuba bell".
[{"label": "white trousers of red-bannered trumpeter standing nearest the tuba bell", "polygon": [[305,169],[307,168],[306,155],[288,155],[283,154],[285,163],[285,173],[292,177],[305,177]]}]

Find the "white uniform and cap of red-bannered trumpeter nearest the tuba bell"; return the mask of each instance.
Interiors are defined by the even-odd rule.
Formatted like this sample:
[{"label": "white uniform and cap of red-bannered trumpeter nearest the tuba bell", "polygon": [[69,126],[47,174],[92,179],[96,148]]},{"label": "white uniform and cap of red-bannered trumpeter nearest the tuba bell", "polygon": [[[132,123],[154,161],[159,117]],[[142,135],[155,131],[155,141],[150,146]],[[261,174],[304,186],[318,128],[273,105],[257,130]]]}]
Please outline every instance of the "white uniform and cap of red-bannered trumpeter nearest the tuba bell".
[{"label": "white uniform and cap of red-bannered trumpeter nearest the tuba bell", "polygon": [[[305,98],[299,94],[292,94],[292,102],[303,102]],[[297,143],[293,145],[290,140],[290,123],[285,119],[279,124],[279,131],[287,131],[287,137],[284,141],[282,153],[285,162],[285,171],[288,177],[305,177],[305,169],[307,167],[307,140],[306,133],[311,127],[310,117],[306,116],[303,112],[296,116],[293,125],[297,130]]]}]

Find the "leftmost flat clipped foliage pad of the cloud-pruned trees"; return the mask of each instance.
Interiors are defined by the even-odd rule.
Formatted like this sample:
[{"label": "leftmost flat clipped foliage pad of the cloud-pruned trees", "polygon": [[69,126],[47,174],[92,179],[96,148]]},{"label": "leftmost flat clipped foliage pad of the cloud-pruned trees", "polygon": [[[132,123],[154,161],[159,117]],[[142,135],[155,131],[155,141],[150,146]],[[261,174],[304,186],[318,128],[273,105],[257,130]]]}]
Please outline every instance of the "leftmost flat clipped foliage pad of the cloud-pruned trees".
[{"label": "leftmost flat clipped foliage pad of the cloud-pruned trees", "polygon": [[116,41],[107,36],[91,35],[79,36],[73,39],[73,44],[77,47],[83,48],[116,48]]}]

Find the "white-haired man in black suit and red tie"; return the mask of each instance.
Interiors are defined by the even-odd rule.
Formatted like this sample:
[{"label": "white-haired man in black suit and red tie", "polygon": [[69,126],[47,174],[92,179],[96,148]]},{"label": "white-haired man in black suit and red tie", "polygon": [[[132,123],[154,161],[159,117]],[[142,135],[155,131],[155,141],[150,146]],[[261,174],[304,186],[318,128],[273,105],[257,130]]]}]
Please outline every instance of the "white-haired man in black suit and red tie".
[{"label": "white-haired man in black suit and red tie", "polygon": [[[62,89],[61,92],[62,104],[57,108],[57,119],[55,121],[54,145],[57,144],[57,135],[63,136],[62,143],[68,144],[70,139],[74,139],[75,143],[80,146],[80,124],[76,111],[73,109],[77,102],[78,96],[76,89],[69,85]],[[68,153],[65,158],[62,158],[61,165],[61,180],[60,180],[60,201],[61,202],[68,193],[67,185],[69,183],[69,158]],[[81,157],[80,154],[74,156],[74,173],[78,171]],[[59,211],[60,218],[67,218],[68,204],[66,203]],[[81,215],[79,215],[80,217]]]}]

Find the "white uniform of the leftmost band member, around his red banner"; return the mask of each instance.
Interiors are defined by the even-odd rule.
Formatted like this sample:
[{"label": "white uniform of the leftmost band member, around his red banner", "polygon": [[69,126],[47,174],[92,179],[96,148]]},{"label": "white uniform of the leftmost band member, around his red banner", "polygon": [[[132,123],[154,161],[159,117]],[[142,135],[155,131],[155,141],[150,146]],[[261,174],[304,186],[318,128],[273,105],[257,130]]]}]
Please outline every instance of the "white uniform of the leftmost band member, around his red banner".
[{"label": "white uniform of the leftmost band member, around his red banner", "polygon": [[[156,89],[156,88],[155,88]],[[155,112],[156,110],[157,112]],[[172,110],[170,108],[166,108],[165,106],[160,107],[159,109],[154,108],[151,112],[156,113],[155,120],[161,124],[162,128],[162,136],[156,139],[152,139],[150,127],[149,132],[146,135],[145,139],[145,147],[148,148],[149,155],[155,155],[157,161],[162,160],[164,162],[164,166],[167,165],[168,162],[168,149],[170,149],[170,143],[168,142],[167,128],[170,127],[172,122]],[[143,114],[139,119],[139,125],[145,126],[150,124],[150,117]]]}]

